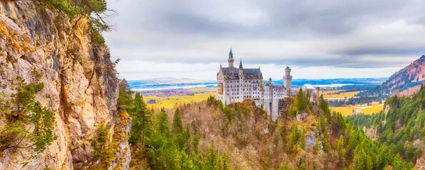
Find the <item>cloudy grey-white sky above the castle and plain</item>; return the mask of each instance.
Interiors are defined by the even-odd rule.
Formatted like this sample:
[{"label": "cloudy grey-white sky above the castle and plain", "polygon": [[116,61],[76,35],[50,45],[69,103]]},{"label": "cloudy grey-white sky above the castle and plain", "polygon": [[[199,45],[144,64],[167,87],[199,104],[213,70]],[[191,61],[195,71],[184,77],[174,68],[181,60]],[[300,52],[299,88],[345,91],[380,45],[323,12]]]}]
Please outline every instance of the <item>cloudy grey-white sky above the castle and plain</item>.
[{"label": "cloudy grey-white sky above the castle and plain", "polygon": [[390,77],[425,55],[423,0],[107,1],[125,79],[215,80],[230,47],[272,79]]}]

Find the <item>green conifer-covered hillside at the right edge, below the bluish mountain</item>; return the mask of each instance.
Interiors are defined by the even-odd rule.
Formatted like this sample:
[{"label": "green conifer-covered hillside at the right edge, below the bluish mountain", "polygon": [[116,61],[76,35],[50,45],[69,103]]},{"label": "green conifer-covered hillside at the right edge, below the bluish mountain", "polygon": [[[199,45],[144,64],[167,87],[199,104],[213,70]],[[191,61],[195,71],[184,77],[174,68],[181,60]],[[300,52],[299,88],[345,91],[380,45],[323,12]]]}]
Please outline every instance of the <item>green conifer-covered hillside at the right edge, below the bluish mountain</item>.
[{"label": "green conifer-covered hillside at the right edge, below the bluish mountain", "polygon": [[373,131],[373,136],[392,154],[399,154],[405,161],[423,166],[424,103],[425,87],[421,86],[410,98],[388,98],[385,111],[373,115],[353,115],[348,119],[359,128]]}]

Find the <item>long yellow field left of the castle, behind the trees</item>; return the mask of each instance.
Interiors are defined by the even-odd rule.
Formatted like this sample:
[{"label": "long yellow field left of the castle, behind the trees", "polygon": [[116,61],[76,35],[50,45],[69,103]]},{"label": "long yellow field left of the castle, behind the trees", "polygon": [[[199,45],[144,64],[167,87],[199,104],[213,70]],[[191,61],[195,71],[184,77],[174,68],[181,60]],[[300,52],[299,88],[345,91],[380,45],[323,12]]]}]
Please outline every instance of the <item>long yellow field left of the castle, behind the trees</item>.
[{"label": "long yellow field left of the castle, behind the trees", "polygon": [[217,96],[216,93],[208,94],[195,94],[194,96],[169,96],[160,98],[157,96],[144,96],[143,99],[148,101],[149,99],[156,99],[157,103],[147,104],[148,108],[174,108],[174,106],[181,103],[192,103],[198,101],[206,101],[209,96]]}]

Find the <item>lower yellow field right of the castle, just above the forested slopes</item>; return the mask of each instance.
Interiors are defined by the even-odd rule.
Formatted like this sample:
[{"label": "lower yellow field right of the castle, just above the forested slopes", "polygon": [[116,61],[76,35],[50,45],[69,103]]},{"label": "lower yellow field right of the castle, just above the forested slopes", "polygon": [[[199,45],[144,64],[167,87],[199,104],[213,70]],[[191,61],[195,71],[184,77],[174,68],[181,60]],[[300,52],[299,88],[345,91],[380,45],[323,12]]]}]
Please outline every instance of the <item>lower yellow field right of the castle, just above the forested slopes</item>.
[{"label": "lower yellow field right of the castle, just above the forested slopes", "polygon": [[341,112],[342,115],[351,115],[353,113],[353,110],[357,110],[359,109],[361,111],[361,113],[365,114],[365,115],[370,115],[372,113],[378,113],[379,111],[381,111],[384,106],[379,103],[372,103],[371,107],[368,106],[345,106],[345,107],[329,107],[331,108],[331,111],[336,111],[336,112]]}]

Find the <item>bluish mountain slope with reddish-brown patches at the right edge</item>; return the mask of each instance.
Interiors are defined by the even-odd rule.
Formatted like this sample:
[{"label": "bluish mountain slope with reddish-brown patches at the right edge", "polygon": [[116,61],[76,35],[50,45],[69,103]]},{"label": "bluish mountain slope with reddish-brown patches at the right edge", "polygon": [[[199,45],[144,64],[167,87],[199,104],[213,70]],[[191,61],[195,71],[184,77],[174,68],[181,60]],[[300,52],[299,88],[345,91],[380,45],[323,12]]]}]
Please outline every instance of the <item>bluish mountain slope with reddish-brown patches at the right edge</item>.
[{"label": "bluish mountain slope with reddish-brown patches at the right edge", "polygon": [[387,81],[383,82],[375,89],[363,91],[359,95],[363,96],[390,96],[390,95],[411,95],[419,89],[425,81],[425,55],[412,62],[407,67],[392,74]]}]

